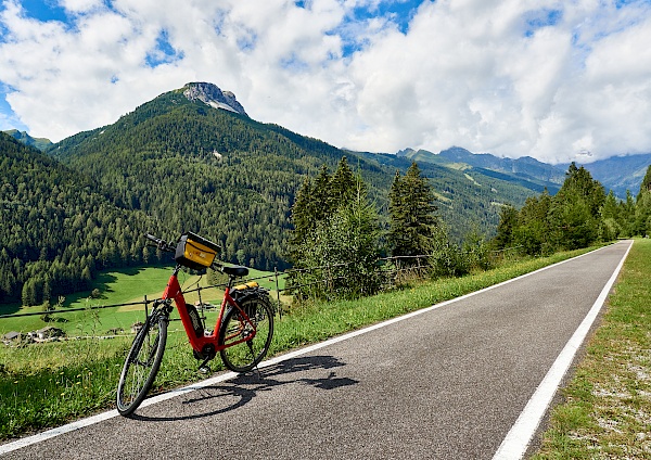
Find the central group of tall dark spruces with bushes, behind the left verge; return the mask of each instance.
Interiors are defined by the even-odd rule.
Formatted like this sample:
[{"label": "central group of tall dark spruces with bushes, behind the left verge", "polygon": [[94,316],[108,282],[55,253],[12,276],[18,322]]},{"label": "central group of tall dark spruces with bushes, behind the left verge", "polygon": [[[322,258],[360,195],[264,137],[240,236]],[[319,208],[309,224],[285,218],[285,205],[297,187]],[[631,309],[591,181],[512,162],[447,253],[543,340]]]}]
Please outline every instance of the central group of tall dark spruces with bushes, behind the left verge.
[{"label": "central group of tall dark spruces with bushes, behind the left verge", "polygon": [[323,166],[316,178],[305,179],[292,207],[290,237],[294,271],[288,285],[298,298],[373,294],[383,283],[378,261],[386,256],[398,257],[401,267],[425,266],[435,276],[470,270],[465,250],[476,241],[459,247],[449,240],[433,188],[416,162],[404,175],[396,171],[386,199],[383,221],[345,156],[334,173]]}]

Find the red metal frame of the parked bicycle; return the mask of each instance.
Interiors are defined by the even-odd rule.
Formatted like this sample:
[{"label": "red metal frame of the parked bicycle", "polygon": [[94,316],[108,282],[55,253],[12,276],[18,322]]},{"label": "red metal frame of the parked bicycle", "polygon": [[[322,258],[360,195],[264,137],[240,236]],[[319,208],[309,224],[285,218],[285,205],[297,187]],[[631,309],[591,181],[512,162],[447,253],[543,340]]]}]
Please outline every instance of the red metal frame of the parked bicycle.
[{"label": "red metal frame of the parked bicycle", "polygon": [[[186,297],[183,297],[183,291],[181,289],[181,285],[179,284],[179,279],[178,279],[179,270],[180,270],[180,266],[177,266],[174,269],[174,272],[169,277],[169,281],[167,282],[167,286],[165,288],[165,291],[163,292],[162,301],[167,301],[169,298],[174,299],[177,310],[179,311],[179,316],[181,317],[181,322],[183,323],[183,328],[186,329],[186,334],[188,335],[188,338],[190,340],[190,345],[192,345],[192,348],[195,352],[201,354],[206,345],[214,347],[215,352],[220,352],[225,348],[246,342],[255,336],[257,329],[256,329],[254,322],[251,320],[251,318],[248,318],[246,312],[240,307],[238,302],[231,296],[233,280],[232,280],[232,278],[229,278],[228,285],[226,286],[226,290],[224,291],[224,299],[221,301],[221,308],[219,309],[219,316],[217,318],[217,323],[215,324],[215,329],[213,330],[213,333],[209,335],[204,334],[203,336],[197,337],[196,333],[194,332],[194,327],[192,325],[192,319],[190,318],[190,315],[188,314],[188,309],[186,308]],[[240,329],[238,331],[235,331],[233,334],[231,334],[229,336],[224,337],[221,341],[222,344],[220,345],[219,344],[219,342],[220,342],[219,341],[219,331],[221,329],[221,321],[224,319],[226,308],[229,305],[233,308],[238,308],[238,310],[240,311],[241,317],[244,319],[244,321],[241,321]],[[243,337],[240,337],[239,340],[230,342],[232,338],[240,335],[242,328],[244,328],[245,325],[248,325],[252,328],[253,335],[243,336]]]}]

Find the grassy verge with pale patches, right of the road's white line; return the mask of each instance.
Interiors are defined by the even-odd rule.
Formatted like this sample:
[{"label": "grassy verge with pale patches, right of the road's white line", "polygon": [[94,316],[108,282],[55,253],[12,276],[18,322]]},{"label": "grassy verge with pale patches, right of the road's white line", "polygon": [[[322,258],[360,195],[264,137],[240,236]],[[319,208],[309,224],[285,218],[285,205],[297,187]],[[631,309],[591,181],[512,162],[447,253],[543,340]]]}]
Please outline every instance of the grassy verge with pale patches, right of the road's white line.
[{"label": "grassy verge with pale patches, right of the road's white line", "polygon": [[637,240],[534,459],[651,459],[649,273],[651,240]]}]

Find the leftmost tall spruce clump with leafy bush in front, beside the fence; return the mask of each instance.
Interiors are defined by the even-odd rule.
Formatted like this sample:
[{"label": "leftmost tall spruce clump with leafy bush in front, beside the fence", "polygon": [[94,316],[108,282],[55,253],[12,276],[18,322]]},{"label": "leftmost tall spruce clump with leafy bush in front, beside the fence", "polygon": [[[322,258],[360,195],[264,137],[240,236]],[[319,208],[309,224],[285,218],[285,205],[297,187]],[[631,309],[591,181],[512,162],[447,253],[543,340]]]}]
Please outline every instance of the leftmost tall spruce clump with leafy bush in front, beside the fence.
[{"label": "leftmost tall spruce clump with leafy bush in front, beside the fence", "polygon": [[323,166],[314,184],[309,179],[303,182],[292,221],[294,267],[321,267],[291,274],[289,283],[296,286],[298,296],[349,297],[376,291],[379,216],[369,203],[366,184],[353,174],[345,156],[332,176]]}]

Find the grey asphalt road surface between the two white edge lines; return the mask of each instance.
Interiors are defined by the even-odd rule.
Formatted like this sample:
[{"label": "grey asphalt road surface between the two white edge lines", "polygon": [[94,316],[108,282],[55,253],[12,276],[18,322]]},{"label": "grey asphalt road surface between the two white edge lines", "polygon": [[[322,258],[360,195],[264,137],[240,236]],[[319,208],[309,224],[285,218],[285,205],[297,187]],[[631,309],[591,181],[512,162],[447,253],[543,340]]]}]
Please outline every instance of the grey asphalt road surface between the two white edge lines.
[{"label": "grey asphalt road surface between the two white edge lines", "polygon": [[492,459],[629,244],[3,458]]}]

